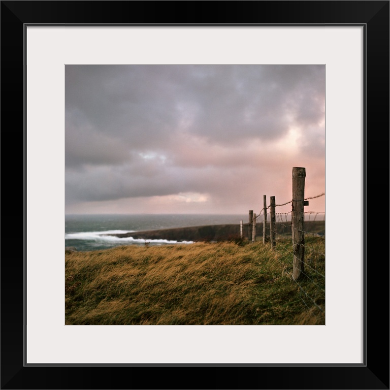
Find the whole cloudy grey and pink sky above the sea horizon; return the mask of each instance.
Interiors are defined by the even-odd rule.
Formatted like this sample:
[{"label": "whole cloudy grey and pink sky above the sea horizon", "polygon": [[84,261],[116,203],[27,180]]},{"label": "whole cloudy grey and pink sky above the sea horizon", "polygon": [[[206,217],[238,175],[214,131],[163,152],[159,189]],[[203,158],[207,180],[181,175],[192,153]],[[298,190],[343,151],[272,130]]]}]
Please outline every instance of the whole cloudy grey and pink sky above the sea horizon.
[{"label": "whole cloudy grey and pink sky above the sea horizon", "polygon": [[317,196],[325,86],[324,65],[67,65],[66,213],[258,212],[293,167]]}]

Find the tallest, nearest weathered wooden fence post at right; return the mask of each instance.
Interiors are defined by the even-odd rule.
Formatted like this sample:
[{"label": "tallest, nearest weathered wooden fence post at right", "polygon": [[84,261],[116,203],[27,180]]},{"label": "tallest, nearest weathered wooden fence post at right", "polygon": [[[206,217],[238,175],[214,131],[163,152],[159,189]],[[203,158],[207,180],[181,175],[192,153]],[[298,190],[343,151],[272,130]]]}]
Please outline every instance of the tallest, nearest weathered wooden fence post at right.
[{"label": "tallest, nearest weathered wooden fence post at right", "polygon": [[303,233],[303,206],[305,198],[306,169],[293,168],[293,205],[291,210],[291,235],[293,238],[293,279],[298,280],[305,271],[305,237]]}]

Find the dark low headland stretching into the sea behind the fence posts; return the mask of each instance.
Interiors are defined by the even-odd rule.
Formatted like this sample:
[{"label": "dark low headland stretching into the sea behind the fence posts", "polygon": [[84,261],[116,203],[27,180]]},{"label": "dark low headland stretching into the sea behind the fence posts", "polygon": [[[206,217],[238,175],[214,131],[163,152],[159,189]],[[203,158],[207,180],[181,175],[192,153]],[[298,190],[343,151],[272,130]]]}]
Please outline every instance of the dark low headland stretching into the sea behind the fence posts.
[{"label": "dark low headland stretching into the sea behind the fence posts", "polygon": [[[277,235],[289,236],[291,224],[276,223]],[[269,224],[267,226],[269,229]],[[310,234],[324,236],[325,221],[305,221],[304,230]],[[269,234],[269,232],[268,232]],[[173,228],[160,230],[147,230],[142,232],[109,234],[114,237],[133,237],[144,240],[176,240],[176,241],[229,241],[240,235],[240,224],[221,224],[189,226],[188,228]],[[248,223],[243,224],[243,236],[248,237]],[[263,223],[256,225],[256,237],[263,237]],[[278,238],[278,237],[276,237]]]}]

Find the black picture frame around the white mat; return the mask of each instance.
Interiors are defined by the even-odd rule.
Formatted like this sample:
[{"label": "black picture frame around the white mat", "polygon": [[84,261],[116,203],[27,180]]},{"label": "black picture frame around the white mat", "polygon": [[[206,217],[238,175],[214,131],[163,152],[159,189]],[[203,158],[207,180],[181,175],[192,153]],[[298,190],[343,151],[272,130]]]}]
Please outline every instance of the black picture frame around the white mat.
[{"label": "black picture frame around the white mat", "polygon": [[[389,257],[386,234],[389,215],[387,212],[389,4],[389,1],[364,0],[2,1],[1,123],[3,151],[6,151],[3,156],[4,161],[7,161],[6,163],[3,161],[3,178],[4,174],[7,178],[7,173],[12,175],[15,172],[16,162],[22,166],[20,170],[23,169],[23,189],[20,188],[17,197],[14,186],[6,186],[2,193],[3,205],[6,206],[6,212],[15,209],[23,216],[19,218],[18,214],[16,218],[9,211],[10,214],[7,213],[4,219],[7,223],[3,226],[0,307],[1,388],[389,389]],[[172,11],[169,11],[170,9]],[[25,163],[25,28],[28,24],[355,24],[364,26],[366,88],[363,158],[365,167],[364,364],[276,366],[267,364],[28,366],[25,364],[25,209],[26,171],[28,170]],[[370,176],[368,176],[369,169]],[[376,171],[380,172],[379,179],[375,175]],[[15,182],[14,180],[15,177],[10,177],[10,183]],[[16,181],[21,183],[20,178]],[[15,204],[16,200],[17,204]],[[346,201],[340,200],[341,203]],[[373,209],[378,203],[380,215],[379,211]],[[11,205],[14,205],[14,208]],[[21,232],[22,226],[23,232]],[[20,243],[22,239],[23,245]],[[294,346],[291,345],[291,348]]]}]

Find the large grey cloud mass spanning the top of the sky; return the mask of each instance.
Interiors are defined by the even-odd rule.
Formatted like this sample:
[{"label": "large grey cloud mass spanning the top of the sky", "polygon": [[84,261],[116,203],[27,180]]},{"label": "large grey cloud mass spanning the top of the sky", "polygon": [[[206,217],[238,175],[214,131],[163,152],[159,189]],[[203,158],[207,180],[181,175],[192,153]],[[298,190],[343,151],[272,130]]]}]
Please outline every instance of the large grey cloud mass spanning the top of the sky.
[{"label": "large grey cloud mass spanning the top of the sky", "polygon": [[313,81],[317,73],[310,66],[69,66],[66,107],[136,147],[146,137],[167,144],[183,119],[194,134],[222,144],[277,138],[288,112],[297,121],[318,112],[312,96],[323,93],[324,79]]}]

